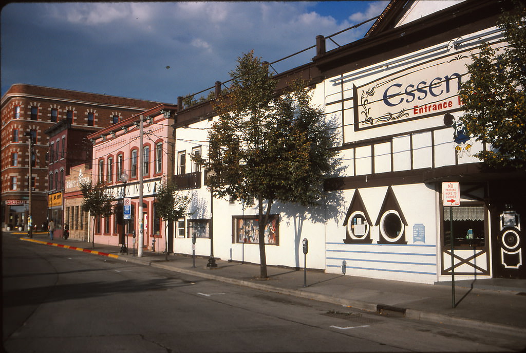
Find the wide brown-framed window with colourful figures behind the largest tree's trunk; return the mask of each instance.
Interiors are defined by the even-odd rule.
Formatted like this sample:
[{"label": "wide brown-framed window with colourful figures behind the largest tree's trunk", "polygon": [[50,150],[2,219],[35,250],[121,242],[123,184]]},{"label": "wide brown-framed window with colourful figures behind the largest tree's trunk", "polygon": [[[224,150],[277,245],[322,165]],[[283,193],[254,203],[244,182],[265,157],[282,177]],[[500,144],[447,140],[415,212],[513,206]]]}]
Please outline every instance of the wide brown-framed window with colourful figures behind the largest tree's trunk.
[{"label": "wide brown-framed window with colourful figures behind the largest tree's trunk", "polygon": [[[259,220],[256,217],[234,217],[235,242],[259,244]],[[265,244],[279,245],[279,216],[270,215],[265,227]]]}]

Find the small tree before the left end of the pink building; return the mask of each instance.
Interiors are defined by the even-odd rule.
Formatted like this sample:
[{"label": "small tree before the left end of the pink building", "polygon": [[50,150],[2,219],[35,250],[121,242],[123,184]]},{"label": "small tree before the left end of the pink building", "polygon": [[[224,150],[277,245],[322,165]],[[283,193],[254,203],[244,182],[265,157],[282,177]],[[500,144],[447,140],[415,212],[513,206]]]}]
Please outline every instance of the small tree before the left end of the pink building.
[{"label": "small tree before the left end of the pink building", "polygon": [[92,181],[80,183],[80,191],[84,199],[82,200],[82,210],[89,212],[93,220],[92,247],[95,248],[95,218],[109,217],[113,213],[113,196],[107,193],[105,183],[99,181],[95,186]]}]

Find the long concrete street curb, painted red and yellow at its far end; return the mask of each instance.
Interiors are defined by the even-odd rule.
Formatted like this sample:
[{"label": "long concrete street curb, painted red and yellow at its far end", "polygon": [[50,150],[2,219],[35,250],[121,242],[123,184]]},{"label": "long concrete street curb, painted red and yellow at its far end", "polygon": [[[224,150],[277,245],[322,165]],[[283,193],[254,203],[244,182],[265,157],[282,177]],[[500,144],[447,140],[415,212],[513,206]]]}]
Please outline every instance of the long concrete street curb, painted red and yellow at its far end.
[{"label": "long concrete street curb, painted red and yellow at its far end", "polygon": [[332,297],[329,295],[312,293],[312,292],[308,292],[308,291],[301,290],[301,289],[280,288],[280,287],[270,286],[266,284],[255,283],[253,281],[248,281],[248,280],[243,280],[243,279],[235,279],[235,278],[228,278],[228,277],[212,275],[208,273],[200,273],[194,270],[188,270],[184,268],[168,266],[163,263],[157,263],[155,261],[147,261],[147,260],[145,261],[145,260],[139,260],[136,258],[119,257],[119,255],[107,254],[101,251],[88,250],[88,249],[83,249],[83,248],[79,248],[75,246],[50,243],[48,241],[28,239],[28,238],[19,238],[19,239],[24,240],[24,241],[31,241],[32,243],[51,245],[51,246],[57,246],[57,247],[66,248],[66,249],[83,251],[84,253],[89,253],[89,254],[108,256],[108,257],[112,257],[112,258],[115,258],[121,261],[161,268],[161,269],[172,271],[172,272],[206,278],[206,279],[215,280],[215,281],[222,282],[222,283],[228,283],[228,284],[248,287],[252,289],[258,289],[258,290],[265,290],[265,291],[270,291],[273,293],[285,294],[285,295],[295,296],[295,297],[304,298],[304,299],[323,301],[323,302],[327,302],[330,304],[342,305],[342,306],[359,309],[359,310],[376,312],[377,314],[389,315],[389,313],[391,312],[391,313],[396,313],[399,315],[401,314],[403,317],[414,319],[414,320],[431,321],[431,322],[436,322],[438,324],[446,324],[446,325],[460,325],[464,327],[485,329],[489,331],[499,332],[502,334],[526,336],[526,328],[514,327],[514,326],[509,326],[509,325],[504,325],[504,324],[497,324],[495,322],[454,317],[450,315],[439,314],[438,312],[432,312],[432,311],[393,307],[393,306],[389,306],[385,304],[380,304],[380,303],[375,304],[372,302],[361,301],[361,300],[336,298],[336,297]]}]

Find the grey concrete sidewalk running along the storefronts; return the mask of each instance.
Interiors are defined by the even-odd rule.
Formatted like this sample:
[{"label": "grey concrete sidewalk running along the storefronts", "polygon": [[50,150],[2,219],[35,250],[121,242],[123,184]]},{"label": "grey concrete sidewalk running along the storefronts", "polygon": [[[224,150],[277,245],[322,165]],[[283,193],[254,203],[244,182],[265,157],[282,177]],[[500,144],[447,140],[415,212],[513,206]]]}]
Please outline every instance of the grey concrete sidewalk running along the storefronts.
[{"label": "grey concrete sidewalk running along the storefronts", "polygon": [[18,236],[25,241],[53,243],[55,246],[65,247],[65,251],[73,251],[74,247],[87,253],[178,273],[385,315],[405,315],[412,319],[477,327],[526,337],[526,280],[456,280],[457,305],[452,308],[451,283],[426,285],[326,274],[322,270],[307,269],[307,287],[304,287],[304,271],[294,268],[268,266],[269,279],[259,280],[259,264],[216,260],[217,268],[209,269],[206,267],[208,258],[196,257],[196,267],[193,267],[193,257],[187,255],[169,255],[168,261],[165,261],[163,253],[150,250],[145,250],[139,258],[137,249],[134,257],[131,248],[129,254],[120,254],[120,246],[95,244],[95,249],[92,249],[91,243],[74,239],[61,238],[51,242],[44,233],[34,234],[33,239],[28,239],[22,233]]}]

